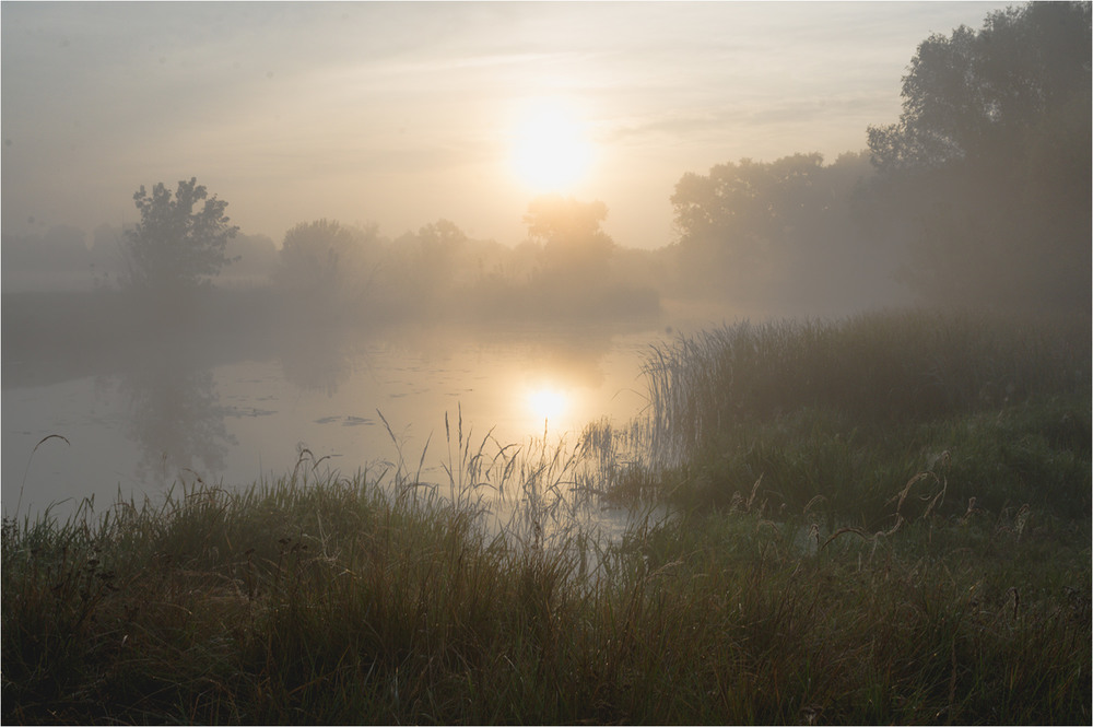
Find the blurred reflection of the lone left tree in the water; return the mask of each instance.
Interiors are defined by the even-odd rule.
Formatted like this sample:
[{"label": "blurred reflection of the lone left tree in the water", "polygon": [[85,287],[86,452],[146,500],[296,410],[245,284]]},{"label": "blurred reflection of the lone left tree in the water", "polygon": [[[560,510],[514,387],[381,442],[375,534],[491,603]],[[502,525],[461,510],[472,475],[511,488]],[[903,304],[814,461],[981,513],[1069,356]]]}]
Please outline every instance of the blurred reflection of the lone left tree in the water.
[{"label": "blurred reflection of the lone left tree in the water", "polygon": [[121,376],[127,434],[141,450],[134,474],[161,486],[213,478],[224,471],[236,441],[224,423],[212,371],[193,362],[181,344],[154,349]]}]

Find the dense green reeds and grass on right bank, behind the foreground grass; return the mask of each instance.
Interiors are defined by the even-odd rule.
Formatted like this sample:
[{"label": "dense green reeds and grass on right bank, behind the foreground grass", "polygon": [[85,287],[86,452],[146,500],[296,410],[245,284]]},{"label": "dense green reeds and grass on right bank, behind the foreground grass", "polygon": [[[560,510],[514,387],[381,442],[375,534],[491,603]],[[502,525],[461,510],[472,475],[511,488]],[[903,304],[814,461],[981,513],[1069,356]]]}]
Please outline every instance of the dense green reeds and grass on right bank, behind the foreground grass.
[{"label": "dense green reeds and grass on right bank, behind the foreground grass", "polygon": [[951,466],[949,505],[1090,507],[1090,328],[940,313],[741,324],[653,351],[651,448],[694,502],[763,477],[874,521],[912,477]]}]

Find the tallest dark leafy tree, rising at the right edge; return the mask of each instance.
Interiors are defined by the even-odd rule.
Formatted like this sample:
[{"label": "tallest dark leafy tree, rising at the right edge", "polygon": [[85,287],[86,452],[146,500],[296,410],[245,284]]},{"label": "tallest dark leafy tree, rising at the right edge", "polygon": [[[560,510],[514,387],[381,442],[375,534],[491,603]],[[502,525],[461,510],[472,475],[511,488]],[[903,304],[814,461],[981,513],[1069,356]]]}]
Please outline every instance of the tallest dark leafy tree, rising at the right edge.
[{"label": "tallest dark leafy tree, rising at the right edge", "polygon": [[869,149],[922,298],[1088,309],[1090,37],[1089,3],[1033,2],[919,45]]}]

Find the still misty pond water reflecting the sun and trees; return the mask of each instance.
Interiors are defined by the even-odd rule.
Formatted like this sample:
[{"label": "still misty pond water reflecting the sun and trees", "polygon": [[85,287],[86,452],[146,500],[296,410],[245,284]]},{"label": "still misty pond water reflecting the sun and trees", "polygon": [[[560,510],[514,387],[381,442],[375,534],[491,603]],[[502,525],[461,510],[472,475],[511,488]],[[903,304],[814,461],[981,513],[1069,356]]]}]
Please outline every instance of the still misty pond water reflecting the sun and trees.
[{"label": "still misty pond water reflecting the sun and trees", "polygon": [[400,453],[415,469],[424,452],[423,479],[446,481],[446,414],[453,439],[461,414],[475,446],[491,430],[501,445],[544,432],[572,444],[588,422],[642,414],[642,366],[671,338],[654,324],[416,326],[304,332],[223,355],[161,341],[45,382],[30,375],[38,362],[5,351],[4,514],[51,503],[64,514],[92,495],[103,509],[119,492],[155,500],[179,482],[248,485],[291,473],[302,453],[351,474]]}]

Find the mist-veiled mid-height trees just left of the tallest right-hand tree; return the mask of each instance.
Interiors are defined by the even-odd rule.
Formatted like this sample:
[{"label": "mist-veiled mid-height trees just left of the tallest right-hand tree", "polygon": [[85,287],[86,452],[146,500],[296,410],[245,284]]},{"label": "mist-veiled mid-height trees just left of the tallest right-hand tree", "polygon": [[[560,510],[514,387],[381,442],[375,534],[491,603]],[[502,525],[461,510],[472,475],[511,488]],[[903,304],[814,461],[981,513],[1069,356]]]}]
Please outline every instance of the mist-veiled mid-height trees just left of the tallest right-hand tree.
[{"label": "mist-veiled mid-height trees just left of the tallest right-hand tree", "polygon": [[833,300],[883,278],[891,262],[866,246],[855,216],[854,195],[871,174],[862,155],[825,165],[813,153],[683,175],[671,201],[686,288],[769,306]]}]

